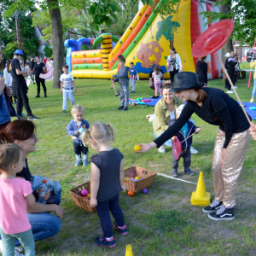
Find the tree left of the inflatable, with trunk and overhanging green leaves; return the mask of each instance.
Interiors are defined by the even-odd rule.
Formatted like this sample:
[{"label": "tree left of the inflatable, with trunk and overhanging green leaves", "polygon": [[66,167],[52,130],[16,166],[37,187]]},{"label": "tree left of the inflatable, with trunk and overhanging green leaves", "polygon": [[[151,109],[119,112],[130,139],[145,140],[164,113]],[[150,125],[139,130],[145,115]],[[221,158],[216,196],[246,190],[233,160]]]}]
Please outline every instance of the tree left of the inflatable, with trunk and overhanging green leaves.
[{"label": "tree left of the inflatable, with trunk and overhanging green leaves", "polygon": [[[3,0],[0,0],[3,1]],[[153,0],[142,0],[143,3],[149,3],[154,5]],[[114,0],[47,0],[39,2],[39,0],[7,0],[11,5],[4,13],[5,17],[14,15],[15,10],[32,11],[35,9],[35,3],[38,3],[42,9],[49,9],[49,15],[52,25],[52,45],[53,45],[53,56],[55,59],[55,73],[54,73],[54,88],[60,88],[59,77],[61,75],[61,66],[63,63],[64,56],[64,44],[63,44],[63,31],[62,31],[62,20],[60,6],[67,4],[78,7],[84,11],[85,15],[90,15],[90,30],[91,32],[99,32],[100,25],[105,24],[106,26],[113,25],[113,20],[117,20],[117,14],[121,12],[119,4]],[[160,12],[160,15],[169,14],[175,12],[172,5],[166,6],[166,4],[178,3],[177,0],[162,0],[164,8],[157,9],[155,12]],[[171,7],[171,8],[170,8]],[[96,37],[95,37],[96,38]]]}]

